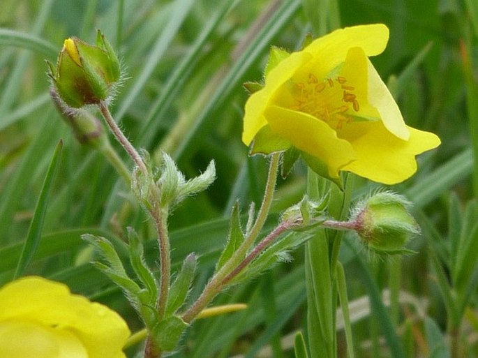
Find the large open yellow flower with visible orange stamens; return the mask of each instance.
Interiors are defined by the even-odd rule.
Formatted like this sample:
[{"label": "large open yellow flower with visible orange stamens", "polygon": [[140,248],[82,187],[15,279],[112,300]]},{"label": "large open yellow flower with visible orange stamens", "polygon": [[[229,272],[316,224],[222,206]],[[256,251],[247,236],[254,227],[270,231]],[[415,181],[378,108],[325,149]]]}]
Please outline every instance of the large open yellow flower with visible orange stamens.
[{"label": "large open yellow flower with visible orange stamens", "polygon": [[384,184],[412,176],[415,156],[438,147],[440,139],[405,125],[368,59],[383,52],[388,38],[383,24],[361,25],[299,52],[276,50],[264,87],[246,103],[242,140],[252,143],[251,154],[295,147],[332,180],[340,171]]}]

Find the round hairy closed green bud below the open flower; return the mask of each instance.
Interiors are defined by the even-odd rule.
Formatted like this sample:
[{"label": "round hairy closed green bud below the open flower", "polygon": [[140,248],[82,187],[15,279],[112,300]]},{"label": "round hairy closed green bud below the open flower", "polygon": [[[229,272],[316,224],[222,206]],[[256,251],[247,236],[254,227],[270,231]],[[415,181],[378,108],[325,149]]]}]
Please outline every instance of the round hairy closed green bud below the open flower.
[{"label": "round hairy closed green bud below the open flower", "polygon": [[410,215],[411,203],[405,197],[390,193],[377,193],[364,200],[355,209],[355,230],[364,244],[375,253],[393,255],[410,253],[404,248],[407,241],[420,228]]}]

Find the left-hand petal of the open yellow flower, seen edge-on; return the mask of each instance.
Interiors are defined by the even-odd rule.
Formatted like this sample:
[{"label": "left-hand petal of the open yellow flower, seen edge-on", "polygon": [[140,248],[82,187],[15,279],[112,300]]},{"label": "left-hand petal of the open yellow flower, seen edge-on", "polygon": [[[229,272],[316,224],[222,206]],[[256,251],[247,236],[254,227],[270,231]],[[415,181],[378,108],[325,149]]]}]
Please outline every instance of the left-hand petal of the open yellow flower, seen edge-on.
[{"label": "left-hand petal of the open yellow flower, seen edge-on", "polygon": [[248,98],[244,112],[244,131],[242,133],[244,144],[251,144],[253,137],[260,128],[267,124],[264,110],[269,105],[269,101],[272,100],[276,89],[289,80],[297,68],[301,68],[310,58],[311,56],[304,52],[294,52],[272,68],[266,77],[264,88]]}]

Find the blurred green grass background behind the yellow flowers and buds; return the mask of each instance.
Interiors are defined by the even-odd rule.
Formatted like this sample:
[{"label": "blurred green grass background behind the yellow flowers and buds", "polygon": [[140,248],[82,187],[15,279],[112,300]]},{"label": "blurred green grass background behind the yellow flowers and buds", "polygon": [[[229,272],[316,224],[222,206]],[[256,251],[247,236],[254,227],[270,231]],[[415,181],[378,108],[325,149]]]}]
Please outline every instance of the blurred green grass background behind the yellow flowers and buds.
[{"label": "blurred green grass background behind the yellow flowers and buds", "polygon": [[[187,253],[200,255],[195,297],[223,248],[232,204],[239,199],[246,208],[263,191],[266,161],[248,158],[240,140],[247,98],[241,84],[261,80],[271,45],[297,50],[308,32],[382,22],[391,36],[373,64],[407,124],[438,134],[442,145],[419,157],[412,179],[392,188],[414,202],[423,234],[410,248],[418,253],[374,260],[352,235],[343,245],[354,354],[397,356],[382,340],[387,315],[403,357],[478,355],[476,1],[2,0],[1,8],[0,285],[13,278],[29,237],[33,257],[24,274],[67,283],[117,310],[133,331],[142,328],[119,289],[89,263],[95,253],[80,235],[107,237],[121,252],[126,227],[133,226],[156,265],[154,230],[117,172],[76,142],[49,98],[44,59],[56,61],[64,38],[94,43],[98,28],[117,49],[127,80],[112,113],[136,147],[153,158],[167,151],[187,177],[216,161],[215,184],[170,218],[173,269]],[[54,157],[59,140],[63,150]],[[57,173],[44,185],[52,158]],[[297,165],[279,183],[271,224],[300,200],[305,179],[305,167]],[[376,188],[357,183],[356,198]],[[175,357],[271,357],[261,351],[267,347],[274,357],[292,357],[290,334],[303,329],[306,309],[302,250],[292,258],[218,297],[249,308],[196,322]],[[386,311],[368,304],[370,294],[380,299],[372,286],[389,292]],[[458,353],[447,343],[456,326]],[[346,357],[341,329],[338,342]]]}]

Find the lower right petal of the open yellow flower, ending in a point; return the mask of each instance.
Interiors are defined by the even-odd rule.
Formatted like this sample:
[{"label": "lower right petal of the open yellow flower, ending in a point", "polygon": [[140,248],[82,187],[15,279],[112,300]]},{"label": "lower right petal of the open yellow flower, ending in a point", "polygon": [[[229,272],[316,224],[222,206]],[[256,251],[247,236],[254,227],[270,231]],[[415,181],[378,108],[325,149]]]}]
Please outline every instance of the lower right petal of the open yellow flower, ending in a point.
[{"label": "lower right petal of the open yellow flower, ending in a point", "polygon": [[357,160],[342,170],[354,172],[383,184],[397,184],[417,171],[415,156],[440,145],[433,133],[411,127],[410,140],[391,134],[381,122],[357,122],[346,126],[344,135],[350,140]]}]

